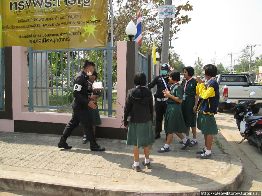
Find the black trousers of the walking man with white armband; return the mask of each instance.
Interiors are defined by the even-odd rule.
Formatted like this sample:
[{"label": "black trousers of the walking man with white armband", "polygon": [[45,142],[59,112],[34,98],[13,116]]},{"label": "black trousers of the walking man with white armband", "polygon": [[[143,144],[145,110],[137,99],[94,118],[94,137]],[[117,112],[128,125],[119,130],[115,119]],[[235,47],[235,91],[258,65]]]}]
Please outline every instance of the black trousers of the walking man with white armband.
[{"label": "black trousers of the walking man with white armband", "polygon": [[93,124],[91,115],[88,112],[88,105],[83,106],[82,104],[76,104],[75,101],[72,103],[73,113],[70,122],[65,126],[63,131],[64,137],[69,137],[73,130],[79,125],[79,122],[84,126],[84,132],[88,141],[95,140],[95,134],[93,132]]}]

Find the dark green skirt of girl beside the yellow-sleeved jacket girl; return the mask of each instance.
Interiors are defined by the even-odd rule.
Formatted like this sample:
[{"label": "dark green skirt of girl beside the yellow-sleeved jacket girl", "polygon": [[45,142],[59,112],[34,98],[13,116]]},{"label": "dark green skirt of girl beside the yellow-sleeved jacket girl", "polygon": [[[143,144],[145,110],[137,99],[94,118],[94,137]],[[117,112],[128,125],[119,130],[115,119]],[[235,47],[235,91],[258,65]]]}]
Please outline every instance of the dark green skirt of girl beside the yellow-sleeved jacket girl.
[{"label": "dark green skirt of girl beside the yellow-sleeved jacket girl", "polygon": [[183,100],[181,104],[183,118],[187,127],[197,126],[197,113],[193,113],[194,105],[195,97],[186,97],[186,100]]}]

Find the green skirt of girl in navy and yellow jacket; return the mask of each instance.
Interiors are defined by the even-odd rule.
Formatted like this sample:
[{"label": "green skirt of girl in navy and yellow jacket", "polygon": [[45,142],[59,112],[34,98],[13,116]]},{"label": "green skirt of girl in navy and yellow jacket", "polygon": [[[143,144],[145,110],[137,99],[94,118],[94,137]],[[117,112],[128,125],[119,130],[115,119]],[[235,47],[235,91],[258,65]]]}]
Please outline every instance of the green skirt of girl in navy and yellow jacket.
[{"label": "green skirt of girl in navy and yellow jacket", "polygon": [[198,112],[197,128],[205,135],[217,135],[217,123],[213,115]]}]

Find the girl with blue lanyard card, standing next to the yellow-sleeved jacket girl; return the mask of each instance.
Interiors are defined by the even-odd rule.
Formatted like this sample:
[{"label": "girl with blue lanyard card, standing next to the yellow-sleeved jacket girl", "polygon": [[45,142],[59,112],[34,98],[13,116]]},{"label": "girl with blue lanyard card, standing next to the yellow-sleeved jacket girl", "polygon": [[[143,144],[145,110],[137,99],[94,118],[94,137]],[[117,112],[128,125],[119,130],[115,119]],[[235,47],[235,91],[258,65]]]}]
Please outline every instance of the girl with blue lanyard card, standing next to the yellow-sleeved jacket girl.
[{"label": "girl with blue lanyard card, standing next to the yellow-sleeved jacket girl", "polygon": [[183,102],[181,104],[183,118],[187,126],[187,133],[185,138],[189,139],[190,127],[193,133],[193,140],[189,146],[197,145],[197,102],[198,94],[196,93],[197,80],[193,78],[194,68],[193,67],[184,67],[183,75],[185,80],[181,82],[183,88]]}]

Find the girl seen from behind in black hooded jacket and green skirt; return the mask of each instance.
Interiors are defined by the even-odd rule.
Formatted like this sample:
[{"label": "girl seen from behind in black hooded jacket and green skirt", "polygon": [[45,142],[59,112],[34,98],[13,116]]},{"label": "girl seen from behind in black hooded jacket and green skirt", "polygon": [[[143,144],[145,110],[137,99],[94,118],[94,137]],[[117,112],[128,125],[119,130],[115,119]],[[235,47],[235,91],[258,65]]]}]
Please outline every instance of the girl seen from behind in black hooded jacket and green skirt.
[{"label": "girl seen from behind in black hooded jacket and green skirt", "polygon": [[135,88],[128,90],[124,108],[124,127],[128,129],[127,145],[134,146],[134,163],[130,167],[140,171],[139,148],[143,146],[145,160],[142,164],[150,169],[149,144],[155,142],[153,134],[153,96],[145,87],[146,75],[143,71],[137,72],[134,77]]}]

